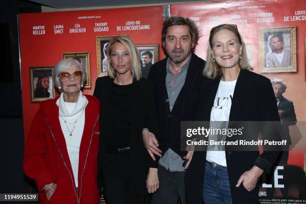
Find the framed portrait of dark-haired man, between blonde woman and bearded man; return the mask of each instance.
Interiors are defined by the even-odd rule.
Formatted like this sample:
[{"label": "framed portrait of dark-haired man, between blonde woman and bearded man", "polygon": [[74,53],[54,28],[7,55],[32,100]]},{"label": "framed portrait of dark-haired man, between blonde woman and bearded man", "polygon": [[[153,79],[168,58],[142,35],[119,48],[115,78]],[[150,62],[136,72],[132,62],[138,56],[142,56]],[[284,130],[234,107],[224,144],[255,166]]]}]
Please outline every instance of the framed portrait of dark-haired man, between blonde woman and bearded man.
[{"label": "framed portrait of dark-haired man, between blonde woman and bearded man", "polygon": [[151,66],[158,61],[158,45],[136,45],[139,51],[142,77],[146,78]]}]

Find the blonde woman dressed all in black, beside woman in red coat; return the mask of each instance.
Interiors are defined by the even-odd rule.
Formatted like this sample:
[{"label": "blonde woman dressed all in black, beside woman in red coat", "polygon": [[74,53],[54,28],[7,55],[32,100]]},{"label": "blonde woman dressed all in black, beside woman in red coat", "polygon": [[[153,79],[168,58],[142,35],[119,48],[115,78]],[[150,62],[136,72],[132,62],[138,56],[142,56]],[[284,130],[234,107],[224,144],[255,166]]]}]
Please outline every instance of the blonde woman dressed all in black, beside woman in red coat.
[{"label": "blonde woman dressed all in black, beside woman in red coat", "polygon": [[140,78],[138,52],[127,36],[107,47],[109,76],[96,80],[100,100],[98,183],[108,204],[144,203],[158,186],[157,163],[142,142],[142,129],[158,133],[153,85]]}]

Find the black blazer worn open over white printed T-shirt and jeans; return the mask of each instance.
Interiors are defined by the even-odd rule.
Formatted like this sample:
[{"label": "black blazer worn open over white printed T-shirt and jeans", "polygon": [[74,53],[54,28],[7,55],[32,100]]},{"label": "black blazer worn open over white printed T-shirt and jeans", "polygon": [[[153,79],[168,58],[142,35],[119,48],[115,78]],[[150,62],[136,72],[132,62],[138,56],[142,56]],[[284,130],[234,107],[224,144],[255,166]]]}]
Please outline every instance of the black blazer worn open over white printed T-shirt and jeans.
[{"label": "black blazer worn open over white printed T-shirt and jeans", "polygon": [[[201,86],[201,92],[197,105],[196,120],[209,121],[210,111],[218,89],[220,77],[214,80],[206,80]],[[276,99],[268,78],[256,74],[246,69],[241,69],[232,98],[229,127],[236,123],[230,121],[279,121],[276,107]],[[277,139],[280,132],[280,124],[277,123]],[[268,135],[271,128],[263,128],[262,134]],[[243,134],[257,139],[258,131],[254,128],[244,127]],[[228,137],[226,138],[228,139]],[[259,203],[258,185],[247,191],[242,183],[235,187],[240,175],[249,170],[253,165],[270,172],[279,151],[264,151],[259,155],[259,151],[226,151],[228,179],[232,203]],[[206,161],[206,151],[194,151],[190,165],[185,175],[185,190],[187,203],[202,203],[202,187],[204,180],[204,167]]]}]

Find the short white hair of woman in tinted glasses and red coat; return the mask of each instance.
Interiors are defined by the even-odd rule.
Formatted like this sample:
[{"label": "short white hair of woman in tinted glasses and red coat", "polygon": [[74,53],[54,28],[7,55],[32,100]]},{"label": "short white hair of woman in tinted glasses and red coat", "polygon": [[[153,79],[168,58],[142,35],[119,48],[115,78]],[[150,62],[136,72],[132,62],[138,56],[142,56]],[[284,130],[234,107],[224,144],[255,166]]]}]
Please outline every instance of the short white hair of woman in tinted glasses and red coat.
[{"label": "short white hair of woman in tinted glasses and red coat", "polygon": [[55,65],[54,71],[53,71],[54,72],[53,74],[54,84],[57,89],[59,89],[58,86],[60,86],[58,75],[62,72],[63,69],[70,68],[72,65],[78,66],[80,70],[83,72],[82,78],[81,78],[81,84],[83,84],[86,81],[86,70],[84,66],[82,66],[82,64],[77,59],[74,59],[74,58],[63,59]]}]

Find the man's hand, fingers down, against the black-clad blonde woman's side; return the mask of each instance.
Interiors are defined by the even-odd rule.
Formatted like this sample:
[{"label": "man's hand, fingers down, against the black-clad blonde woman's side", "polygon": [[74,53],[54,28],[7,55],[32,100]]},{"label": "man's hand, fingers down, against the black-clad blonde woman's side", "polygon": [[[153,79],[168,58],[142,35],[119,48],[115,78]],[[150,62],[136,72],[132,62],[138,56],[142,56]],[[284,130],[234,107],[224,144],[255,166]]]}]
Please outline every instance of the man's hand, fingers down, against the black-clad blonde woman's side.
[{"label": "man's hand, fingers down, against the black-clad blonde woman's side", "polygon": [[156,160],[154,154],[161,157],[162,151],[158,148],[159,146],[158,141],[152,132],[143,129],[142,140],[144,143],[144,147],[146,148],[147,152],[150,154],[153,160]]}]

